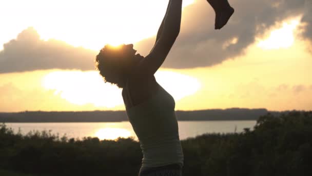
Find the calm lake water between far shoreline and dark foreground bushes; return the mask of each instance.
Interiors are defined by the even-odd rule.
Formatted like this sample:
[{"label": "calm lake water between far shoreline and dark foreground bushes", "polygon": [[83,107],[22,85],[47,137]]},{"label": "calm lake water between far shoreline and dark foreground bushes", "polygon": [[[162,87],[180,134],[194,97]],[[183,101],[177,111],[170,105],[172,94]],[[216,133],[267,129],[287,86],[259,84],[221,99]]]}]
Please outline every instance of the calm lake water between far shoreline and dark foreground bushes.
[{"label": "calm lake water between far shoreline and dark foreground bushes", "polygon": [[[234,133],[242,132],[244,128],[253,129],[256,120],[242,121],[179,121],[181,139],[196,137],[205,133]],[[100,139],[116,139],[118,137],[134,137],[136,135],[128,121],[122,122],[72,122],[72,123],[7,123],[14,132],[21,129],[22,134],[29,131],[51,130],[60,137],[69,138],[98,137]]]}]

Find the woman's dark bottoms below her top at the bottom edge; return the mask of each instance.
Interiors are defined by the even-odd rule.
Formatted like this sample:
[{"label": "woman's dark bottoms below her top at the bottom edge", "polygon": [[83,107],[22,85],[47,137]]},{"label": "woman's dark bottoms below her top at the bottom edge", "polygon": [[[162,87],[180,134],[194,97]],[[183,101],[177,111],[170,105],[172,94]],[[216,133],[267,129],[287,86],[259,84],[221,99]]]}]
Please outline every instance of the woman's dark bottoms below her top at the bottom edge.
[{"label": "woman's dark bottoms below her top at the bottom edge", "polygon": [[180,164],[172,164],[155,168],[141,168],[139,176],[182,176]]}]

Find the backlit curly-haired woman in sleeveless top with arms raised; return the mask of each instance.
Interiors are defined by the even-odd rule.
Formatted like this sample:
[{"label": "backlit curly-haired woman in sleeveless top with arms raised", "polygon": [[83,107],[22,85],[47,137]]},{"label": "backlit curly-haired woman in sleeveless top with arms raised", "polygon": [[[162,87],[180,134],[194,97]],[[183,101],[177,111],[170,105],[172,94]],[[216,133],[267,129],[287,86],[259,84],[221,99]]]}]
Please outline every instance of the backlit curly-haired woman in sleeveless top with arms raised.
[{"label": "backlit curly-haired woman in sleeveless top with arms raised", "polygon": [[[217,1],[225,5],[227,2]],[[217,11],[230,9],[229,5],[217,5]],[[128,118],[143,152],[140,176],[182,175],[183,152],[174,112],[175,102],[154,77],[179,35],[181,11],[182,0],[169,1],[154,47],[146,57],[135,54],[132,44],[118,48],[106,45],[96,56],[97,68],[105,81],[123,89]],[[217,28],[226,24],[229,13],[227,10],[218,13]]]}]

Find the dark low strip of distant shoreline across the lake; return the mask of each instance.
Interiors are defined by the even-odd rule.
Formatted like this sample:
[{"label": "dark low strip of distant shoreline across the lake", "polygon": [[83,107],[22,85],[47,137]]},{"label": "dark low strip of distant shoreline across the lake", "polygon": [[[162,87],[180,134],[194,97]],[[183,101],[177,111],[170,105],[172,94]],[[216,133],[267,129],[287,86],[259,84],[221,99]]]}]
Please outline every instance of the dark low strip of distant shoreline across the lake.
[{"label": "dark low strip of distant shoreline across the lake", "polygon": [[[175,111],[178,121],[257,120],[260,116],[281,112],[266,109],[212,109],[199,111]],[[128,121],[125,111],[44,112],[25,111],[0,113],[0,122],[53,123],[53,122],[122,122]]]}]

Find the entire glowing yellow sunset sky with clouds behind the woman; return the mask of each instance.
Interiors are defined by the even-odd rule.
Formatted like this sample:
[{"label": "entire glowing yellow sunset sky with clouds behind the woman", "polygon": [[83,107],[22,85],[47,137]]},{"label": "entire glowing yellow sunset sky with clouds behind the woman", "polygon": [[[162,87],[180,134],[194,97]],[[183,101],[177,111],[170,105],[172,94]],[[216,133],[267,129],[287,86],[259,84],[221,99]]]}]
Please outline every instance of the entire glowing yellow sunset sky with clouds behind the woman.
[{"label": "entire glowing yellow sunset sky with clouds behind the woman", "polygon": [[[214,30],[204,0],[184,0],[180,35],[155,74],[176,110],[312,110],[312,2],[229,0]],[[0,112],[124,110],[94,58],[105,44],[146,56],[168,1],[0,1]]]}]

